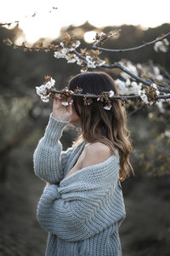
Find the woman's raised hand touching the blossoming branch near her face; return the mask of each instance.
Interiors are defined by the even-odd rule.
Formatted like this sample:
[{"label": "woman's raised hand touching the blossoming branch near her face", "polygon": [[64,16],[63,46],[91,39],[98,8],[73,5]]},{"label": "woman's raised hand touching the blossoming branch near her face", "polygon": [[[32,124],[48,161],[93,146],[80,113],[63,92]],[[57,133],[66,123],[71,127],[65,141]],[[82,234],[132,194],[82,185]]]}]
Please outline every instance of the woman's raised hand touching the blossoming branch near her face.
[{"label": "woman's raised hand touching the blossoming branch near her face", "polygon": [[[64,101],[60,96],[54,97],[53,116],[59,120],[70,121],[72,116],[72,105],[69,104],[68,106],[63,106],[61,104],[62,102]],[[69,103],[72,103],[72,100],[70,100]]]}]

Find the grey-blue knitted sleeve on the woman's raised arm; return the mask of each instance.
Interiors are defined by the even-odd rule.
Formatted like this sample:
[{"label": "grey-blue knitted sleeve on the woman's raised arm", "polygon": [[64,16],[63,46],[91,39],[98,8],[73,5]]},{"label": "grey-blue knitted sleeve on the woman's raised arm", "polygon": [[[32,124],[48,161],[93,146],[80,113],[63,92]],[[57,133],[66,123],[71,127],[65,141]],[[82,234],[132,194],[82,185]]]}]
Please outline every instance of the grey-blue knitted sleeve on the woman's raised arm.
[{"label": "grey-blue knitted sleeve on the woman's raised arm", "polygon": [[53,113],[50,113],[44,136],[40,139],[34,151],[34,172],[45,182],[59,183],[63,178],[63,169],[72,148],[62,152],[62,144],[59,142],[59,138],[68,123],[55,119]]}]

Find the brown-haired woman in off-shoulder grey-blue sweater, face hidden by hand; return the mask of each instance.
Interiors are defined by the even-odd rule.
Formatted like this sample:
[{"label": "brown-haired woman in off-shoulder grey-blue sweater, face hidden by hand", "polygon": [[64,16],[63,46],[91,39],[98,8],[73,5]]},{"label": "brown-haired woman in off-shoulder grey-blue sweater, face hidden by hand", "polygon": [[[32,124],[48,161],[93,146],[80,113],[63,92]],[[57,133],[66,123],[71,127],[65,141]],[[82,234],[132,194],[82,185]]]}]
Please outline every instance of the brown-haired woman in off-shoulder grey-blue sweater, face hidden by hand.
[{"label": "brown-haired woman in off-shoulder grey-blue sweater, face hidden by hand", "polygon": [[[69,90],[101,95],[114,91],[106,73],[81,73],[72,78]],[[121,182],[133,171],[128,155],[126,113],[120,100],[72,96],[62,105],[54,98],[44,137],[34,152],[35,174],[47,182],[37,206],[37,219],[48,230],[46,255],[120,256],[119,227],[126,217]],[[82,141],[62,151],[59,138],[68,123],[82,126]]]}]

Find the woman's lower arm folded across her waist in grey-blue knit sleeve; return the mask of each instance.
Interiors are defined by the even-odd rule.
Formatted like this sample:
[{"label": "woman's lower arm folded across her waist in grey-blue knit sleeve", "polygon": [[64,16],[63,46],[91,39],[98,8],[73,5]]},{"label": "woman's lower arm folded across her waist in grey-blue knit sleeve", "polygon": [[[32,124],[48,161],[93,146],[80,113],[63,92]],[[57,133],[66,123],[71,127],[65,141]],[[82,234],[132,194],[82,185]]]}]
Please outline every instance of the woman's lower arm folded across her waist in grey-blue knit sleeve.
[{"label": "woman's lower arm folded across her waist in grey-blue knit sleeve", "polygon": [[67,177],[59,188],[46,186],[37,207],[38,222],[45,230],[66,241],[82,241],[122,218],[117,199],[115,210],[111,208],[119,164],[116,157],[109,161],[85,167],[80,176]]}]

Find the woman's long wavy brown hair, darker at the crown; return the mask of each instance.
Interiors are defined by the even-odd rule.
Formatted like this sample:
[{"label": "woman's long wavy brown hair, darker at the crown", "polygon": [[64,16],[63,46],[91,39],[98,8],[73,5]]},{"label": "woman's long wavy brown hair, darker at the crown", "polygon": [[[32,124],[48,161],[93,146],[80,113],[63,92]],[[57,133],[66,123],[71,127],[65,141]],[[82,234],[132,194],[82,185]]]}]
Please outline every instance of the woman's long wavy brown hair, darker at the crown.
[{"label": "woman's long wavy brown hair, darker at the crown", "polygon": [[[113,90],[118,96],[116,84],[110,75],[104,72],[80,73],[71,78],[69,90],[82,89],[82,94],[101,95],[102,91]],[[129,162],[132,144],[128,137],[127,115],[121,100],[111,100],[111,110],[105,110],[104,102],[93,98],[93,103],[84,105],[82,96],[72,96],[73,108],[81,119],[82,134],[80,137],[88,143],[104,143],[116,155],[118,148],[120,155],[119,178],[123,181],[129,177],[133,167]],[[79,137],[79,138],[80,138]],[[133,172],[134,175],[134,172]]]}]

